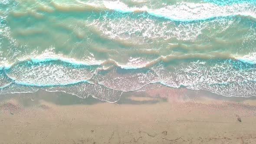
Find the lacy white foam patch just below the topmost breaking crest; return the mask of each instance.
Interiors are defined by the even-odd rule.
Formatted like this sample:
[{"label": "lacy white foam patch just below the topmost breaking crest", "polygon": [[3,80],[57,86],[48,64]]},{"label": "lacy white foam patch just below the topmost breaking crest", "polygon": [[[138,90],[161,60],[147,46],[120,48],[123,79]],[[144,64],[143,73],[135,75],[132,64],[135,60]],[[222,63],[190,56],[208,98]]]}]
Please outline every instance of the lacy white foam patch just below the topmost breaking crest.
[{"label": "lacy white foam patch just below the topmost breaking crest", "polygon": [[[166,42],[170,40],[198,41],[199,36],[206,30],[208,38],[216,36],[238,23],[234,19],[220,18],[211,21],[197,21],[194,23],[175,23],[173,21],[162,21],[149,17],[138,16],[136,19],[131,16],[121,16],[112,13],[113,17],[104,16],[94,20],[90,25],[100,29],[102,34],[110,39],[129,39],[133,43],[148,45],[147,40],[153,39],[151,43]],[[220,31],[211,31],[209,28],[220,27]],[[150,47],[150,45],[149,45]]]}]

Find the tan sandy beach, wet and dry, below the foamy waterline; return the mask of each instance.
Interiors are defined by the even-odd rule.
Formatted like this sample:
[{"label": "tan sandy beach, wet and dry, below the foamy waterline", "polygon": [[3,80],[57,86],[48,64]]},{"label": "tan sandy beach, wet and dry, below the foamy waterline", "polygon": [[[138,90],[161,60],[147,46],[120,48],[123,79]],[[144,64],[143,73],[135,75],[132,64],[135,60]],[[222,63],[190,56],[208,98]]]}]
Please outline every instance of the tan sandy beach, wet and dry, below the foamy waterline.
[{"label": "tan sandy beach, wet and dry, below the foamy waterline", "polygon": [[0,95],[1,144],[255,144],[256,99],[162,87],[117,103]]}]

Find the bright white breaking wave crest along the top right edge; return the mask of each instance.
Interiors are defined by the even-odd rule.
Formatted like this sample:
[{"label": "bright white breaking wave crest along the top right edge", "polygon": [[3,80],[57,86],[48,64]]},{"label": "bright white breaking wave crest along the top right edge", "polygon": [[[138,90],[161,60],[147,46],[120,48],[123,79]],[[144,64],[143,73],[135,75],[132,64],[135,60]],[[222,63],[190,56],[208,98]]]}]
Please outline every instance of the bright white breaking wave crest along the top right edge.
[{"label": "bright white breaking wave crest along the top right edge", "polygon": [[128,7],[120,1],[104,1],[104,6],[109,10],[121,13],[146,12],[151,16],[184,22],[237,15],[256,18],[256,7],[251,3],[234,3],[224,6],[212,3],[177,3],[157,10],[149,9],[148,7]]}]

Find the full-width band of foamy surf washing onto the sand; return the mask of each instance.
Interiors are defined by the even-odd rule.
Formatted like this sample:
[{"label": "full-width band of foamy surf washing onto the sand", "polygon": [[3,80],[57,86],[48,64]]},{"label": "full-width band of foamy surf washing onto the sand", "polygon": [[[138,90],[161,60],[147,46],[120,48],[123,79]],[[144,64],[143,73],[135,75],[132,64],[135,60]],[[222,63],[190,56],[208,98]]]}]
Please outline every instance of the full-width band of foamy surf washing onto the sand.
[{"label": "full-width band of foamy surf washing onto the sand", "polygon": [[[0,87],[2,94],[7,94],[8,91],[31,92],[38,88],[66,92],[66,89],[75,85],[83,85],[85,89],[75,86],[72,94],[81,90],[88,92],[92,87],[98,89],[93,92],[105,89],[107,93],[120,93],[153,89],[159,87],[159,83],[173,88],[182,86],[225,96],[248,97],[256,92],[256,65],[236,59],[190,58],[169,62],[161,60],[139,69],[122,69],[118,66],[102,69],[102,65],[73,65],[49,59],[36,62],[26,60],[12,65],[10,69],[3,69],[1,82],[4,79],[6,83]],[[14,88],[15,85],[19,85],[19,88]],[[90,88],[87,89],[88,87]],[[89,94],[74,95],[82,97],[81,95]]]}]

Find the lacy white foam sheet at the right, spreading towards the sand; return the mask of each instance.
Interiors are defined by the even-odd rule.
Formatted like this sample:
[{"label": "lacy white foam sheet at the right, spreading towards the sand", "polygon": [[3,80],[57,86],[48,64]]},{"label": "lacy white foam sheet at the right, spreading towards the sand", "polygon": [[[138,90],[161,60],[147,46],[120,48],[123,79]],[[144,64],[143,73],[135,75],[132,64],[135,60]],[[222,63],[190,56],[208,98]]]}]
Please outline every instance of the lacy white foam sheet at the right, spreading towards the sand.
[{"label": "lacy white foam sheet at the right, spreading towards the sand", "polygon": [[159,76],[156,82],[178,88],[207,90],[225,96],[255,96],[256,68],[229,60],[217,63],[190,62],[168,71],[163,65],[152,68]]}]

